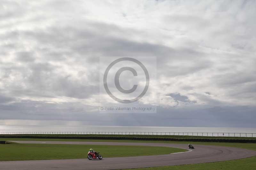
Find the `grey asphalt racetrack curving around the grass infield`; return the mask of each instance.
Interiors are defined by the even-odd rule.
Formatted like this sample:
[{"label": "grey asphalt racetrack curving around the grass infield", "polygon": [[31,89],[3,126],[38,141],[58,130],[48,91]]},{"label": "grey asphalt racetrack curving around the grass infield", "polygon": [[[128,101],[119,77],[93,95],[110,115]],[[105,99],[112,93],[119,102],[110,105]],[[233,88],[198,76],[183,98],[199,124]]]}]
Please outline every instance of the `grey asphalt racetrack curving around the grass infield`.
[{"label": "grey asphalt racetrack curving around the grass infield", "polygon": [[[87,144],[87,145],[137,145],[137,146],[164,146],[188,149],[187,144],[164,143],[117,143],[117,142],[57,142],[57,141],[12,141],[26,144]],[[85,148],[86,149],[86,148]],[[87,155],[87,150],[84,151]],[[188,152],[172,153],[155,156],[119,157],[99,159],[60,159],[60,160],[29,160],[29,161],[2,161],[4,170],[107,170],[128,169],[156,166],[172,166],[217,162],[232,159],[241,159],[256,156],[256,151],[224,146],[195,145],[195,149]]]}]

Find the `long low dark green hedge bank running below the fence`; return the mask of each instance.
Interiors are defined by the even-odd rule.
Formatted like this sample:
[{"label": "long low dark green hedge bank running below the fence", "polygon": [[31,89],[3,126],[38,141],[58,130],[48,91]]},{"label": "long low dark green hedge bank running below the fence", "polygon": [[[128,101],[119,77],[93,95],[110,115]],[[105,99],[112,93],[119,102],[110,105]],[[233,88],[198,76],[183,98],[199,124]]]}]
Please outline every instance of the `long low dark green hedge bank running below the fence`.
[{"label": "long low dark green hedge bank running below the fence", "polygon": [[127,137],[127,136],[58,136],[58,135],[0,135],[0,138],[54,138],[54,139],[105,139],[105,140],[147,140],[147,141],[191,141],[191,142],[230,142],[256,143],[256,139],[235,138],[175,138],[175,137]]}]

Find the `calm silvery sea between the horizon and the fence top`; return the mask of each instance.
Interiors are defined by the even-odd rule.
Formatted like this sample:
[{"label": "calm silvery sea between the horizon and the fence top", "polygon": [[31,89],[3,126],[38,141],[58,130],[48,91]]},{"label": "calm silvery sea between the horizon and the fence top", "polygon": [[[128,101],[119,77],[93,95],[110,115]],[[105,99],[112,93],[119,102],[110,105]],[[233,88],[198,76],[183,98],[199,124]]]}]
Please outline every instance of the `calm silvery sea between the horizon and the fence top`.
[{"label": "calm silvery sea between the horizon and the fence top", "polygon": [[0,125],[3,132],[180,132],[256,133],[256,128],[148,127],[148,126],[41,126]]}]

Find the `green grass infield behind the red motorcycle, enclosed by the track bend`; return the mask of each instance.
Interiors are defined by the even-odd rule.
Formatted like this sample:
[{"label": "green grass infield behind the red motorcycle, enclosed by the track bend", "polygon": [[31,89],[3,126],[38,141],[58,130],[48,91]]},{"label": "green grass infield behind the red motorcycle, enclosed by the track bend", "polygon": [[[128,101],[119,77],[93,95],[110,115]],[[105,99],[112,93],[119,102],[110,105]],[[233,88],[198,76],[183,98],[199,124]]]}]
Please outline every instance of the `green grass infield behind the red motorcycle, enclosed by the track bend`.
[{"label": "green grass infield behind the red motorcycle, enclosed by the track bend", "polygon": [[90,148],[103,157],[159,155],[186,152],[186,149],[152,146],[111,146],[80,144],[1,144],[0,161],[87,158]]}]

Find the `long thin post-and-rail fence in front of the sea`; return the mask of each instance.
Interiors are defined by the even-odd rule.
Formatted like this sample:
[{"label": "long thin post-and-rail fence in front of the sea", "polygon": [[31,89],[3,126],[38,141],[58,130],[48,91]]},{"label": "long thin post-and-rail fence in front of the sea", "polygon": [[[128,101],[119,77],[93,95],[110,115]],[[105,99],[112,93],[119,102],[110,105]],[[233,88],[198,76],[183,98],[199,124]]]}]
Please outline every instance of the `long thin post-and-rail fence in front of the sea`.
[{"label": "long thin post-and-rail fence in front of the sea", "polygon": [[0,132],[0,135],[19,134],[101,134],[101,135],[182,135],[182,136],[209,136],[209,137],[256,137],[256,133],[218,133],[218,132]]}]

